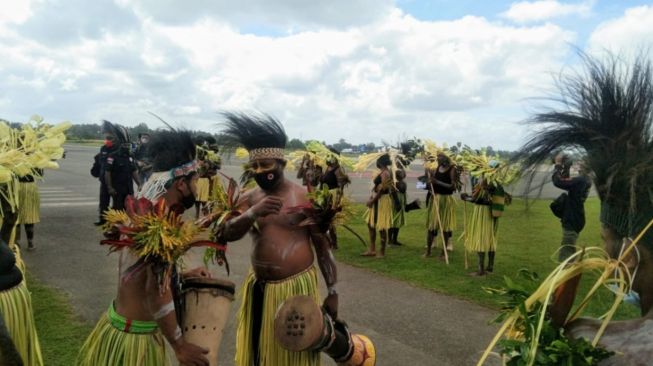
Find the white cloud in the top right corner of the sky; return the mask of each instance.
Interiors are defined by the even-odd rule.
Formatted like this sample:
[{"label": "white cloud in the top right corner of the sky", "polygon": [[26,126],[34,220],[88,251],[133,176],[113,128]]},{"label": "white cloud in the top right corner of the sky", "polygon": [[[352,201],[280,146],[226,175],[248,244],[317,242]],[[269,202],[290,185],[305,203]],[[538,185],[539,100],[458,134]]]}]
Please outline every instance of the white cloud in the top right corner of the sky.
[{"label": "white cloud in the top right corner of the sky", "polygon": [[623,16],[596,27],[589,39],[592,50],[653,51],[653,6],[627,9]]}]

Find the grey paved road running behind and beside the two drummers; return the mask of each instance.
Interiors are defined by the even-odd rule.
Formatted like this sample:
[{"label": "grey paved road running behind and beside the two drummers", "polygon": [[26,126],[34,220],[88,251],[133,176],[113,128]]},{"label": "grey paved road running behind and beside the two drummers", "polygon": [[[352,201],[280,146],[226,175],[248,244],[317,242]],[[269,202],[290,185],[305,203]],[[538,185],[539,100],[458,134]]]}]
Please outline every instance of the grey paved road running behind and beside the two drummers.
[{"label": "grey paved road running behind and beside the two drummers", "polygon": [[[38,249],[25,252],[30,270],[49,285],[68,293],[80,317],[94,323],[113,298],[117,258],[98,245],[98,182],[89,175],[96,149],[69,146],[61,168],[48,171],[41,183],[42,216],[36,228]],[[226,166],[235,175],[236,166]],[[365,182],[354,179],[354,192]],[[250,242],[229,247],[230,279],[239,285],[249,267]],[[196,261],[195,258],[189,258]],[[419,289],[351,266],[339,264],[340,314],[354,332],[370,336],[379,366],[474,365],[495,329],[486,323],[495,314],[486,308],[433,291]],[[213,269],[224,276],[222,269]],[[322,284],[322,291],[324,285]],[[235,313],[225,330],[220,364],[232,365]],[[333,364],[326,357],[325,365]]]}]

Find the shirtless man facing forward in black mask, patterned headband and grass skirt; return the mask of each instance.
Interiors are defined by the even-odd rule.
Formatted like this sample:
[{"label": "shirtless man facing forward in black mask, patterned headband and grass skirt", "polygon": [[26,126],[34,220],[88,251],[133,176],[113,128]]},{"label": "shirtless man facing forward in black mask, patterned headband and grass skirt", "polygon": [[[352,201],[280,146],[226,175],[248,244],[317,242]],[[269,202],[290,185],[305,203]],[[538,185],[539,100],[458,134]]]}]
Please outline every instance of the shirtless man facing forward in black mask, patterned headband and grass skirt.
[{"label": "shirtless man facing forward in black mask, patterned headband and grass skirt", "polygon": [[308,295],[319,301],[315,256],[328,287],[323,306],[335,319],[338,295],[336,265],[329,240],[316,225],[302,226],[303,214],[288,209],[310,204],[306,189],[284,177],[286,134],[270,116],[226,113],[226,145],[244,146],[257,188],[238,205],[240,216],[226,223],[224,238],[235,241],[250,233],[252,269],[242,289],[236,343],[236,365],[317,365],[318,352],[292,352],[274,340],[274,316],[284,300]]}]

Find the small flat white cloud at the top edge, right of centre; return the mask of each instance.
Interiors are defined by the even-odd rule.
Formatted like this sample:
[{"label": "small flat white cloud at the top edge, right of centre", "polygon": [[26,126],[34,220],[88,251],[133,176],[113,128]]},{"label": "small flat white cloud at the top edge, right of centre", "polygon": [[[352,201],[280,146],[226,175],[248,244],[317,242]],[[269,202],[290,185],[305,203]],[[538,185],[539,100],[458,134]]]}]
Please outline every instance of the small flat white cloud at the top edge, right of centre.
[{"label": "small flat white cloud at the top edge, right of centre", "polygon": [[518,23],[539,22],[562,16],[588,16],[595,0],[565,4],[557,0],[520,1],[512,3],[510,9],[501,14],[504,18]]}]

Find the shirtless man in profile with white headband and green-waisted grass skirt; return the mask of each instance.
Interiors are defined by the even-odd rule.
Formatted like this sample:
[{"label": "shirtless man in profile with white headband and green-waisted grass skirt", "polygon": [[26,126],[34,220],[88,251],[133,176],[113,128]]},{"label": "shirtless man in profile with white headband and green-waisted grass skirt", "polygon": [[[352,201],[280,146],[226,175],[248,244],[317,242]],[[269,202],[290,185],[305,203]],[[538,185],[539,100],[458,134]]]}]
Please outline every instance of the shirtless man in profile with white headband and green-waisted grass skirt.
[{"label": "shirtless man in profile with white headband and green-waisted grass skirt", "polygon": [[[153,136],[150,154],[154,173],[139,195],[182,214],[194,204],[197,173],[190,135],[163,131]],[[172,177],[172,178],[171,178]],[[163,338],[181,365],[204,366],[208,350],[187,343],[177,324],[170,288],[161,288],[154,267],[134,270],[138,261],[129,249],[120,252],[118,294],[106,315],[80,350],[79,365],[167,365]],[[196,269],[187,275],[206,276]]]}]

